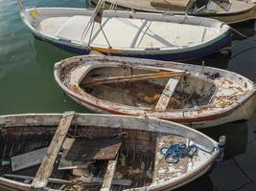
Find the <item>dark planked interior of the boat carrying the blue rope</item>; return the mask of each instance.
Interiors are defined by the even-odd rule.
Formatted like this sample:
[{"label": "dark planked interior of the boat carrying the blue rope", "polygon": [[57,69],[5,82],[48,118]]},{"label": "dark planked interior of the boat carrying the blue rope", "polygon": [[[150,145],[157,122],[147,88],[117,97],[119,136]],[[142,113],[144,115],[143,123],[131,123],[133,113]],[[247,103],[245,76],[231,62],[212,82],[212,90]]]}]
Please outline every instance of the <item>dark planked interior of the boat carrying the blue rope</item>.
[{"label": "dark planked interior of the boat carrying the blue rope", "polygon": [[74,125],[73,117],[64,115],[58,128],[14,123],[3,128],[0,177],[54,190],[125,190],[186,173],[189,158],[170,168],[160,150],[187,138],[135,127]]}]

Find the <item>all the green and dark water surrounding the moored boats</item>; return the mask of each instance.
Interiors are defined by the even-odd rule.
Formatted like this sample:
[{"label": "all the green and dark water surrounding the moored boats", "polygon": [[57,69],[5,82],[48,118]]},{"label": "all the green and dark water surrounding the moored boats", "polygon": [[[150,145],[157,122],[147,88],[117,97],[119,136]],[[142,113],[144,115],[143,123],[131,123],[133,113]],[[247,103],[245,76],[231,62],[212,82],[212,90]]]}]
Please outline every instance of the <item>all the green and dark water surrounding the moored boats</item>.
[{"label": "all the green and dark water surrounding the moored boats", "polygon": [[[26,7],[85,7],[84,0],[24,0]],[[234,35],[231,57],[221,54],[203,58],[206,65],[220,67],[256,82],[256,36],[254,22],[234,26],[250,36]],[[71,56],[35,40],[18,14],[15,0],[0,0],[0,115],[18,113],[88,112],[64,96],[54,80],[54,63]],[[255,191],[256,115],[247,122],[225,124],[202,132],[218,139],[227,137],[225,156],[208,175],[178,191]]]}]

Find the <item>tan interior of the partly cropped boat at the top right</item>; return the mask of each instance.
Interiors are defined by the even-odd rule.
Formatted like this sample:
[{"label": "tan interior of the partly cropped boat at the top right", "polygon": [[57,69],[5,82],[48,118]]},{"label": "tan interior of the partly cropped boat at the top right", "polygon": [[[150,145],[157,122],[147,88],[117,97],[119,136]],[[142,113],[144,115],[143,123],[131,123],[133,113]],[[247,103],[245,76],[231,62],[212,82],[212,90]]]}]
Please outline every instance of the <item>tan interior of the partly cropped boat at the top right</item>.
[{"label": "tan interior of the partly cropped boat at the top right", "polygon": [[[93,0],[96,2],[98,0]],[[107,0],[116,4],[115,0]],[[245,11],[253,7],[252,1],[246,0],[119,0],[118,5],[123,8],[145,11],[189,11],[192,13],[227,13]]]}]

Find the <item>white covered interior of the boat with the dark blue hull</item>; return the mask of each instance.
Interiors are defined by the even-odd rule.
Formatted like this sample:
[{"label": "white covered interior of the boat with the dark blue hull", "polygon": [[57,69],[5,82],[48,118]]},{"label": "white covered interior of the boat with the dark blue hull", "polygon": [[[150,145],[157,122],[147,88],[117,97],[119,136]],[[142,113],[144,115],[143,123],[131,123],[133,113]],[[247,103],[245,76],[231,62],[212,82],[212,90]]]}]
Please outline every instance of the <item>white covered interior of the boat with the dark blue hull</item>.
[{"label": "white covered interior of the boat with the dark blue hull", "polygon": [[165,16],[157,18],[156,15],[143,18],[140,16],[142,13],[131,15],[135,18],[130,18],[124,12],[120,12],[120,15],[118,12],[106,12],[101,25],[95,22],[88,27],[91,11],[85,14],[76,10],[53,13],[38,9],[37,12],[33,19],[35,22],[32,22],[37,32],[63,41],[89,43],[96,48],[138,51],[189,48],[208,42],[226,30],[222,30],[221,25],[207,23],[200,18],[176,16],[168,19]]}]

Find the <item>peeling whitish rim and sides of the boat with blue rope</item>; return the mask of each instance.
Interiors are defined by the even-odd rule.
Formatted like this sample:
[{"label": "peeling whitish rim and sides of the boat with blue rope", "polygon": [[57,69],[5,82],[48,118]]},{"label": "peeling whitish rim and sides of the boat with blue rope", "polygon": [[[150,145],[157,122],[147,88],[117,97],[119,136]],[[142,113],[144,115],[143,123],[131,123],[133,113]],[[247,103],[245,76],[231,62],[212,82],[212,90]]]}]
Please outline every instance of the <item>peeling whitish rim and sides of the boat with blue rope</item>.
[{"label": "peeling whitish rim and sides of the boat with blue rope", "polygon": [[[171,176],[170,179],[166,181],[159,181],[159,182],[152,181],[151,184],[144,185],[144,187],[129,187],[128,189],[125,189],[126,191],[131,191],[131,190],[143,191],[145,189],[153,190],[153,191],[173,190],[192,180],[196,180],[198,179],[198,177],[205,174],[210,169],[210,167],[215,164],[216,159],[218,158],[221,152],[221,150],[219,149],[218,143],[212,138],[208,138],[202,133],[197,132],[188,127],[185,127],[181,124],[170,123],[168,121],[159,120],[157,118],[124,117],[124,116],[122,117],[122,116],[112,116],[112,115],[108,116],[108,115],[94,115],[94,114],[77,114],[76,117],[77,117],[76,120],[72,122],[73,128],[76,128],[76,131],[77,131],[78,130],[77,125],[78,125],[79,128],[84,128],[86,129],[86,131],[89,131],[88,128],[91,127],[89,131],[90,135],[94,135],[93,133],[97,128],[101,128],[101,130],[103,130],[102,134],[108,135],[108,134],[111,134],[108,131],[109,128],[116,129],[116,128],[122,127],[122,129],[124,131],[126,130],[127,133],[130,133],[130,132],[133,133],[133,132],[142,130],[144,132],[148,132],[149,135],[155,134],[156,136],[159,136],[157,138],[163,138],[161,137],[162,133],[165,133],[165,136],[166,134],[169,134],[169,135],[179,135],[180,138],[188,138],[188,139],[193,138],[194,141],[198,144],[198,146],[201,146],[200,148],[211,149],[211,153],[208,153],[208,154],[205,154],[202,150],[198,150],[197,159],[195,159],[196,164],[193,163],[195,165],[187,166],[189,173],[186,173],[185,174],[186,176],[182,174],[179,174],[178,176],[176,176],[176,174],[174,174],[172,175],[174,176],[174,180],[171,179],[172,177]],[[20,138],[24,134],[28,134],[28,132],[30,132],[30,136],[31,136],[30,138],[38,138],[38,137],[43,138],[45,134],[48,134],[49,136],[50,135],[53,136],[55,133],[54,130],[56,130],[56,126],[58,125],[60,118],[61,118],[61,114],[27,114],[27,115],[11,115],[11,116],[0,117],[0,123],[2,124],[3,132],[5,132],[5,134],[2,135],[2,138],[8,137],[9,134],[12,134],[11,137],[16,136],[17,138]],[[116,131],[113,131],[113,132],[115,134]],[[134,135],[134,134],[136,135],[136,133],[133,133],[133,134],[131,133],[129,135]],[[35,137],[33,137],[34,134],[35,134]],[[96,131],[96,134],[98,134],[97,131]],[[147,138],[147,136],[143,138]],[[20,138],[19,140],[22,141],[22,138]],[[143,140],[145,143],[145,139]],[[134,139],[131,137],[130,141],[134,142]],[[7,141],[7,142],[10,143],[10,141]],[[157,160],[158,157],[160,156],[160,159],[162,158],[162,155],[159,153],[159,149],[161,147],[157,146],[159,144],[157,144],[156,142],[153,142],[153,143],[156,144],[157,150],[155,150],[154,153],[152,153],[152,157],[155,158],[154,161],[158,162],[159,161]],[[149,148],[151,148],[150,144],[148,146]],[[145,149],[145,145],[143,145],[142,148]],[[8,148],[8,151],[9,149],[11,148]],[[14,152],[16,151],[14,150]],[[200,156],[201,158],[198,158],[198,156]],[[201,163],[198,163],[200,160],[201,160]],[[157,164],[159,165],[159,163]],[[161,170],[161,165],[156,166],[155,169]],[[171,167],[171,169],[173,168]],[[184,170],[184,169],[181,169],[181,170]],[[52,187],[50,186],[51,185],[49,185],[49,187],[48,186],[46,187],[47,190],[52,190],[52,191],[58,190],[58,188],[52,189]],[[34,190],[30,183],[12,180],[12,179],[9,179],[8,176],[5,177],[2,174],[0,176],[0,187],[8,190],[19,190],[19,191]]]}]

